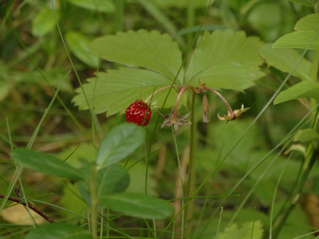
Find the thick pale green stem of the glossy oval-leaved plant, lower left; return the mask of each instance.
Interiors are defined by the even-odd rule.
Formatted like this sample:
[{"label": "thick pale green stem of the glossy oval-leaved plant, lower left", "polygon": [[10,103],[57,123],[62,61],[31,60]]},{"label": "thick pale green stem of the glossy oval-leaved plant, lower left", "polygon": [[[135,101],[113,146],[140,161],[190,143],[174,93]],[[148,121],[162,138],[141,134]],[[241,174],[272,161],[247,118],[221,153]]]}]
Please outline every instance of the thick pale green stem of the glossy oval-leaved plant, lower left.
[{"label": "thick pale green stem of the glossy oval-leaved plant, lower left", "polygon": [[97,205],[98,200],[96,198],[96,181],[97,168],[95,166],[91,169],[91,183],[90,183],[90,193],[91,193],[91,235],[93,239],[97,239]]}]

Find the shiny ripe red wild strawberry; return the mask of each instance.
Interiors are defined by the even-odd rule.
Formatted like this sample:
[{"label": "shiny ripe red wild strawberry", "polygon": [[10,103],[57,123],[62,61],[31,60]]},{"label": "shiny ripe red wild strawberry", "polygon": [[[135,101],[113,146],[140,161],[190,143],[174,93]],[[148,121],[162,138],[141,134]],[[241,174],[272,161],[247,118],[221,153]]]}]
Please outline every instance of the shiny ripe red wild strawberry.
[{"label": "shiny ripe red wild strawberry", "polygon": [[[125,120],[127,122],[142,125],[147,108],[148,105],[146,105],[142,100],[137,99],[135,102],[131,103],[129,107],[127,107],[125,111]],[[143,126],[146,126],[150,122],[151,115],[152,111],[151,108],[149,108]]]}]

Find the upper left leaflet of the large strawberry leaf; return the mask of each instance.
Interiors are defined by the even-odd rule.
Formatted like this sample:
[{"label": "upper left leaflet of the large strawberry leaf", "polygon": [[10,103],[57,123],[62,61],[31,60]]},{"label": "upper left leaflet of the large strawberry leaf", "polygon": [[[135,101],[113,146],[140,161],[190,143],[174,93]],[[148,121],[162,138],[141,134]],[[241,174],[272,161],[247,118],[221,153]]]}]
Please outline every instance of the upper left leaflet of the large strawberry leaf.
[{"label": "upper left leaflet of the large strawberry leaf", "polygon": [[[168,34],[158,31],[118,32],[92,41],[89,48],[108,61],[131,67],[145,67],[173,80],[182,64],[182,52]],[[181,84],[183,70],[176,83]]]}]

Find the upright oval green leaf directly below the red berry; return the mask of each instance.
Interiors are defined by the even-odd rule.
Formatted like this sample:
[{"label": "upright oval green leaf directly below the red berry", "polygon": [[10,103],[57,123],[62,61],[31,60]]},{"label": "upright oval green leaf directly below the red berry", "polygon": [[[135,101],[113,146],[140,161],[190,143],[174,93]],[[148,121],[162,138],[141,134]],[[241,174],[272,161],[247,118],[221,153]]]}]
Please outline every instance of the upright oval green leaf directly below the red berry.
[{"label": "upright oval green leaf directly below the red berry", "polygon": [[113,127],[102,139],[96,164],[102,167],[114,164],[132,154],[143,142],[145,130],[130,123]]}]

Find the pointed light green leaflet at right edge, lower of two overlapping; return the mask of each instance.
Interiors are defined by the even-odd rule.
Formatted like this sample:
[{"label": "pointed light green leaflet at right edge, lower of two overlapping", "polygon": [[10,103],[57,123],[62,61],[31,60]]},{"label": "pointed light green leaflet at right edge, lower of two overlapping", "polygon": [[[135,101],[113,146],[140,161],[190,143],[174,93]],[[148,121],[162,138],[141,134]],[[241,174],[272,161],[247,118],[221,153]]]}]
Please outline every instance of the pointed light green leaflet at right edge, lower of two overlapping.
[{"label": "pointed light green leaflet at right edge, lower of two overlapping", "polygon": [[[279,38],[272,47],[294,47],[307,48],[309,42],[313,39],[315,32],[293,32]],[[319,34],[310,45],[309,49],[319,50]]]}]

